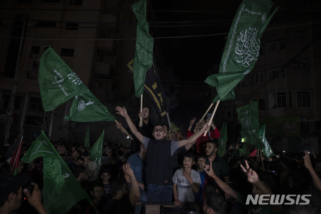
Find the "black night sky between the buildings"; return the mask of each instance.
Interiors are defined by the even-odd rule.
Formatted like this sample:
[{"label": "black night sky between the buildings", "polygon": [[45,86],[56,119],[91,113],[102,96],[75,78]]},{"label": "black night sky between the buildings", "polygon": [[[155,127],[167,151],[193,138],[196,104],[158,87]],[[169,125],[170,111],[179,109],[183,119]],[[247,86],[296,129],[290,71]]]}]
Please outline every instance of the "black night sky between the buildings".
[{"label": "black night sky between the buildings", "polygon": [[[154,43],[160,44],[163,65],[158,65],[161,73],[171,120],[180,128],[187,129],[193,117],[200,117],[214,97],[208,97],[210,87],[203,81],[210,74],[214,64],[219,64],[233,18],[241,1],[227,1],[220,5],[218,1],[151,1],[155,11],[199,11],[197,13],[155,12],[155,22],[186,22],[188,27],[152,27],[150,33]],[[228,6],[228,7],[227,7]],[[147,14],[148,19],[148,14]],[[151,22],[147,20],[148,22]],[[202,22],[201,22],[202,21]],[[204,22],[203,22],[204,21]],[[158,25],[186,25],[182,23]],[[165,38],[222,34],[190,38]],[[183,82],[175,82],[183,81]],[[196,82],[195,82],[196,81]],[[213,107],[214,109],[214,107]]]}]

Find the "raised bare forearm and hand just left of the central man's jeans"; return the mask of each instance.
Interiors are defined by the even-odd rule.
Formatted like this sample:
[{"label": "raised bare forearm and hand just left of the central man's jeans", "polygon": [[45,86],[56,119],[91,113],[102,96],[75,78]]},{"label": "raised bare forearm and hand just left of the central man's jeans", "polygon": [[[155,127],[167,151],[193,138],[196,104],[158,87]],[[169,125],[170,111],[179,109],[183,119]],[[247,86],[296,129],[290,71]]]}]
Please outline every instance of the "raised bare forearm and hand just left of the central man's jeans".
[{"label": "raised bare forearm and hand just left of the central man's jeans", "polygon": [[124,164],[122,166],[122,169],[124,170],[125,175],[129,177],[129,182],[130,182],[129,200],[131,202],[131,205],[134,206],[140,197],[138,183],[134,175],[134,172],[130,168],[129,163]]}]

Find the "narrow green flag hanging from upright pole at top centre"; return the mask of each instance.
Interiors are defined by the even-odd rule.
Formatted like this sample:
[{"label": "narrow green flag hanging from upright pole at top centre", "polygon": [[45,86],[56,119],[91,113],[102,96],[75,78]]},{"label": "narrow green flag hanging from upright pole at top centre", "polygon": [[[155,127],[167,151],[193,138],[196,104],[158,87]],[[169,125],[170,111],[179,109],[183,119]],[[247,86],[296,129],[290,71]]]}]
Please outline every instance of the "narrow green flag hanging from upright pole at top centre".
[{"label": "narrow green flag hanging from upright pole at top centre", "polygon": [[135,95],[143,94],[145,74],[152,64],[153,38],[149,35],[146,20],[146,0],[140,0],[131,6],[137,19],[135,57],[133,61],[133,79]]}]

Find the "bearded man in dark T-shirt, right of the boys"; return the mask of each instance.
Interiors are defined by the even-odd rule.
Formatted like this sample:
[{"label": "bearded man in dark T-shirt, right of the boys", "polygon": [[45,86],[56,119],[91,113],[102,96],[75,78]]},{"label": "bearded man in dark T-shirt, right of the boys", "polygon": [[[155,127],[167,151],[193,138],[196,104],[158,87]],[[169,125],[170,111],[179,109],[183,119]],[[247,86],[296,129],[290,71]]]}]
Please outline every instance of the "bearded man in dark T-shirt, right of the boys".
[{"label": "bearded man in dark T-shirt, right of the boys", "polygon": [[207,156],[206,164],[210,165],[210,159],[212,159],[212,166],[214,173],[224,181],[225,183],[230,181],[230,168],[226,160],[216,155],[218,150],[217,141],[210,140],[206,142],[205,153]]}]

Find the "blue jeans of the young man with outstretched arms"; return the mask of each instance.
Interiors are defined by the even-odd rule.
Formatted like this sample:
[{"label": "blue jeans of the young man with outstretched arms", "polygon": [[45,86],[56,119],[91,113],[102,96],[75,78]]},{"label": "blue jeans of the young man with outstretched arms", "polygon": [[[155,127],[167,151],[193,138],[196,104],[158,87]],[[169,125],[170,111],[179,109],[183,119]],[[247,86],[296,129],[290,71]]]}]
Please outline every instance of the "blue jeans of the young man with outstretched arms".
[{"label": "blue jeans of the young man with outstretched arms", "polygon": [[172,185],[147,184],[148,202],[172,202]]}]

